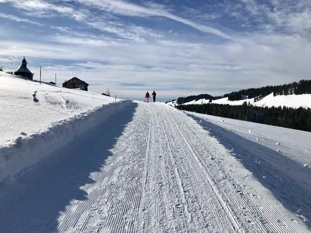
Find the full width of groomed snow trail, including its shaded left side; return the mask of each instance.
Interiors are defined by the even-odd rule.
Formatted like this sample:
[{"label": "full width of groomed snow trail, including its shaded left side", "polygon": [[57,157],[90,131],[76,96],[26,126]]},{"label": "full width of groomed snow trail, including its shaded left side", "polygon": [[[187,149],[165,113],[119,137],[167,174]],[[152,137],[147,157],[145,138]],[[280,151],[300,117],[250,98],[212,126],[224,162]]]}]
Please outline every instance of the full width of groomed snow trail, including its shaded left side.
[{"label": "full width of groomed snow trail, including its shaded left side", "polygon": [[232,152],[173,107],[133,103],[3,183],[0,229],[310,232]]}]

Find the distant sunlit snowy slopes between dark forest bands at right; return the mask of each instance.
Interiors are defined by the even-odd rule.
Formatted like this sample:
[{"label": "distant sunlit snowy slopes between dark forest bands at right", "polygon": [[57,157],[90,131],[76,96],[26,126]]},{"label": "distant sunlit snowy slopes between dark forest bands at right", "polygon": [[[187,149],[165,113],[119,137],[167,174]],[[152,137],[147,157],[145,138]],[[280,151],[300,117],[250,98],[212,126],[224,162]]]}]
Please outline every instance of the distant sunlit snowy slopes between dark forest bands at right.
[{"label": "distant sunlit snowy slopes between dark forest bands at right", "polygon": [[[230,101],[228,97],[213,100],[211,103],[218,103],[218,104],[230,104],[230,105],[242,105],[246,101],[254,106],[261,106],[261,107],[278,107],[278,106],[287,106],[287,107],[310,107],[311,108],[311,94],[302,94],[302,95],[277,95],[273,96],[273,93],[267,95],[266,97],[262,98],[261,100],[254,102],[254,98],[251,99],[244,99],[244,100],[237,100],[237,101]],[[200,99],[200,100],[193,100],[188,103],[184,103],[184,105],[188,104],[203,104],[209,103],[208,99]]]}]

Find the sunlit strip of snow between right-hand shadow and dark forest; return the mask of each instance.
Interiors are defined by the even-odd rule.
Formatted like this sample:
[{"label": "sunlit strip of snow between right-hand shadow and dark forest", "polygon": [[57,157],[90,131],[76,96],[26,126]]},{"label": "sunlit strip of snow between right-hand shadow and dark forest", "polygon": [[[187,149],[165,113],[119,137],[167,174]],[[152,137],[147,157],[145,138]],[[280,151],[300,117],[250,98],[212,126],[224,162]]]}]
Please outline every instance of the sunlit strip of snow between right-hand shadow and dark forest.
[{"label": "sunlit strip of snow between right-hand shadow and dark forest", "polygon": [[200,117],[229,130],[254,143],[264,145],[282,155],[304,164],[311,164],[311,132],[270,126],[250,121],[216,117],[196,112],[184,111],[190,116]]}]

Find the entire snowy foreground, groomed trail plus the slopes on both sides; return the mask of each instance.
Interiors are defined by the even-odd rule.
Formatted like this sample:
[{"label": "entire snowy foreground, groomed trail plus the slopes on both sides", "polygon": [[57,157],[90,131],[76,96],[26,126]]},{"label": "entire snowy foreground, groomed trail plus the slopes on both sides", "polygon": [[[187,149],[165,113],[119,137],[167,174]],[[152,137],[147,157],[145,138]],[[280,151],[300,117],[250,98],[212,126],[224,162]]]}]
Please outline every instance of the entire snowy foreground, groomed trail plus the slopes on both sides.
[{"label": "entire snowy foreground, groomed trail plus the slopes on both sides", "polygon": [[0,232],[311,232],[310,132],[0,75]]}]

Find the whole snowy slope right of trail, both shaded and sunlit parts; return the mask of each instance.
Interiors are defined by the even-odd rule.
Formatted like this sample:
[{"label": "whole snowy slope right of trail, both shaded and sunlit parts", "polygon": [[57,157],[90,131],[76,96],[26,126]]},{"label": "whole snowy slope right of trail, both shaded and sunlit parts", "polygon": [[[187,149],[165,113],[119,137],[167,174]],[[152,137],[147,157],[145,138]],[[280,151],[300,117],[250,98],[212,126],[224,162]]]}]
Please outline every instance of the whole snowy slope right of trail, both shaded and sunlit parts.
[{"label": "whole snowy slope right of trail, both shaded and sunlit parts", "polygon": [[184,112],[231,150],[285,207],[311,225],[311,132]]}]

